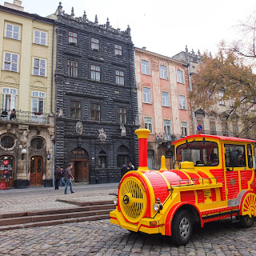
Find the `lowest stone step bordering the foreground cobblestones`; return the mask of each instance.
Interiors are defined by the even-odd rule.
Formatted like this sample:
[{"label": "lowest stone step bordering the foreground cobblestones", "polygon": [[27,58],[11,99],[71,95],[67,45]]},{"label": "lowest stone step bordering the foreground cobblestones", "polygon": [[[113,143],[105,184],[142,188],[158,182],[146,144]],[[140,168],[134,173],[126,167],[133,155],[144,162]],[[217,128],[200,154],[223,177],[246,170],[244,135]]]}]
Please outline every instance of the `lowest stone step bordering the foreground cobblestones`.
[{"label": "lowest stone step bordering the foreground cobblestones", "polygon": [[43,221],[43,222],[29,222],[29,223],[23,223],[23,224],[6,225],[6,226],[0,226],[0,231],[16,230],[16,229],[23,229],[23,228],[36,227],[36,226],[53,226],[53,225],[72,223],[72,222],[96,221],[96,220],[101,220],[101,219],[106,219],[106,218],[110,218],[110,214],[102,214],[102,215],[80,217],[80,218],[64,218],[64,219],[50,220],[50,221]]}]

